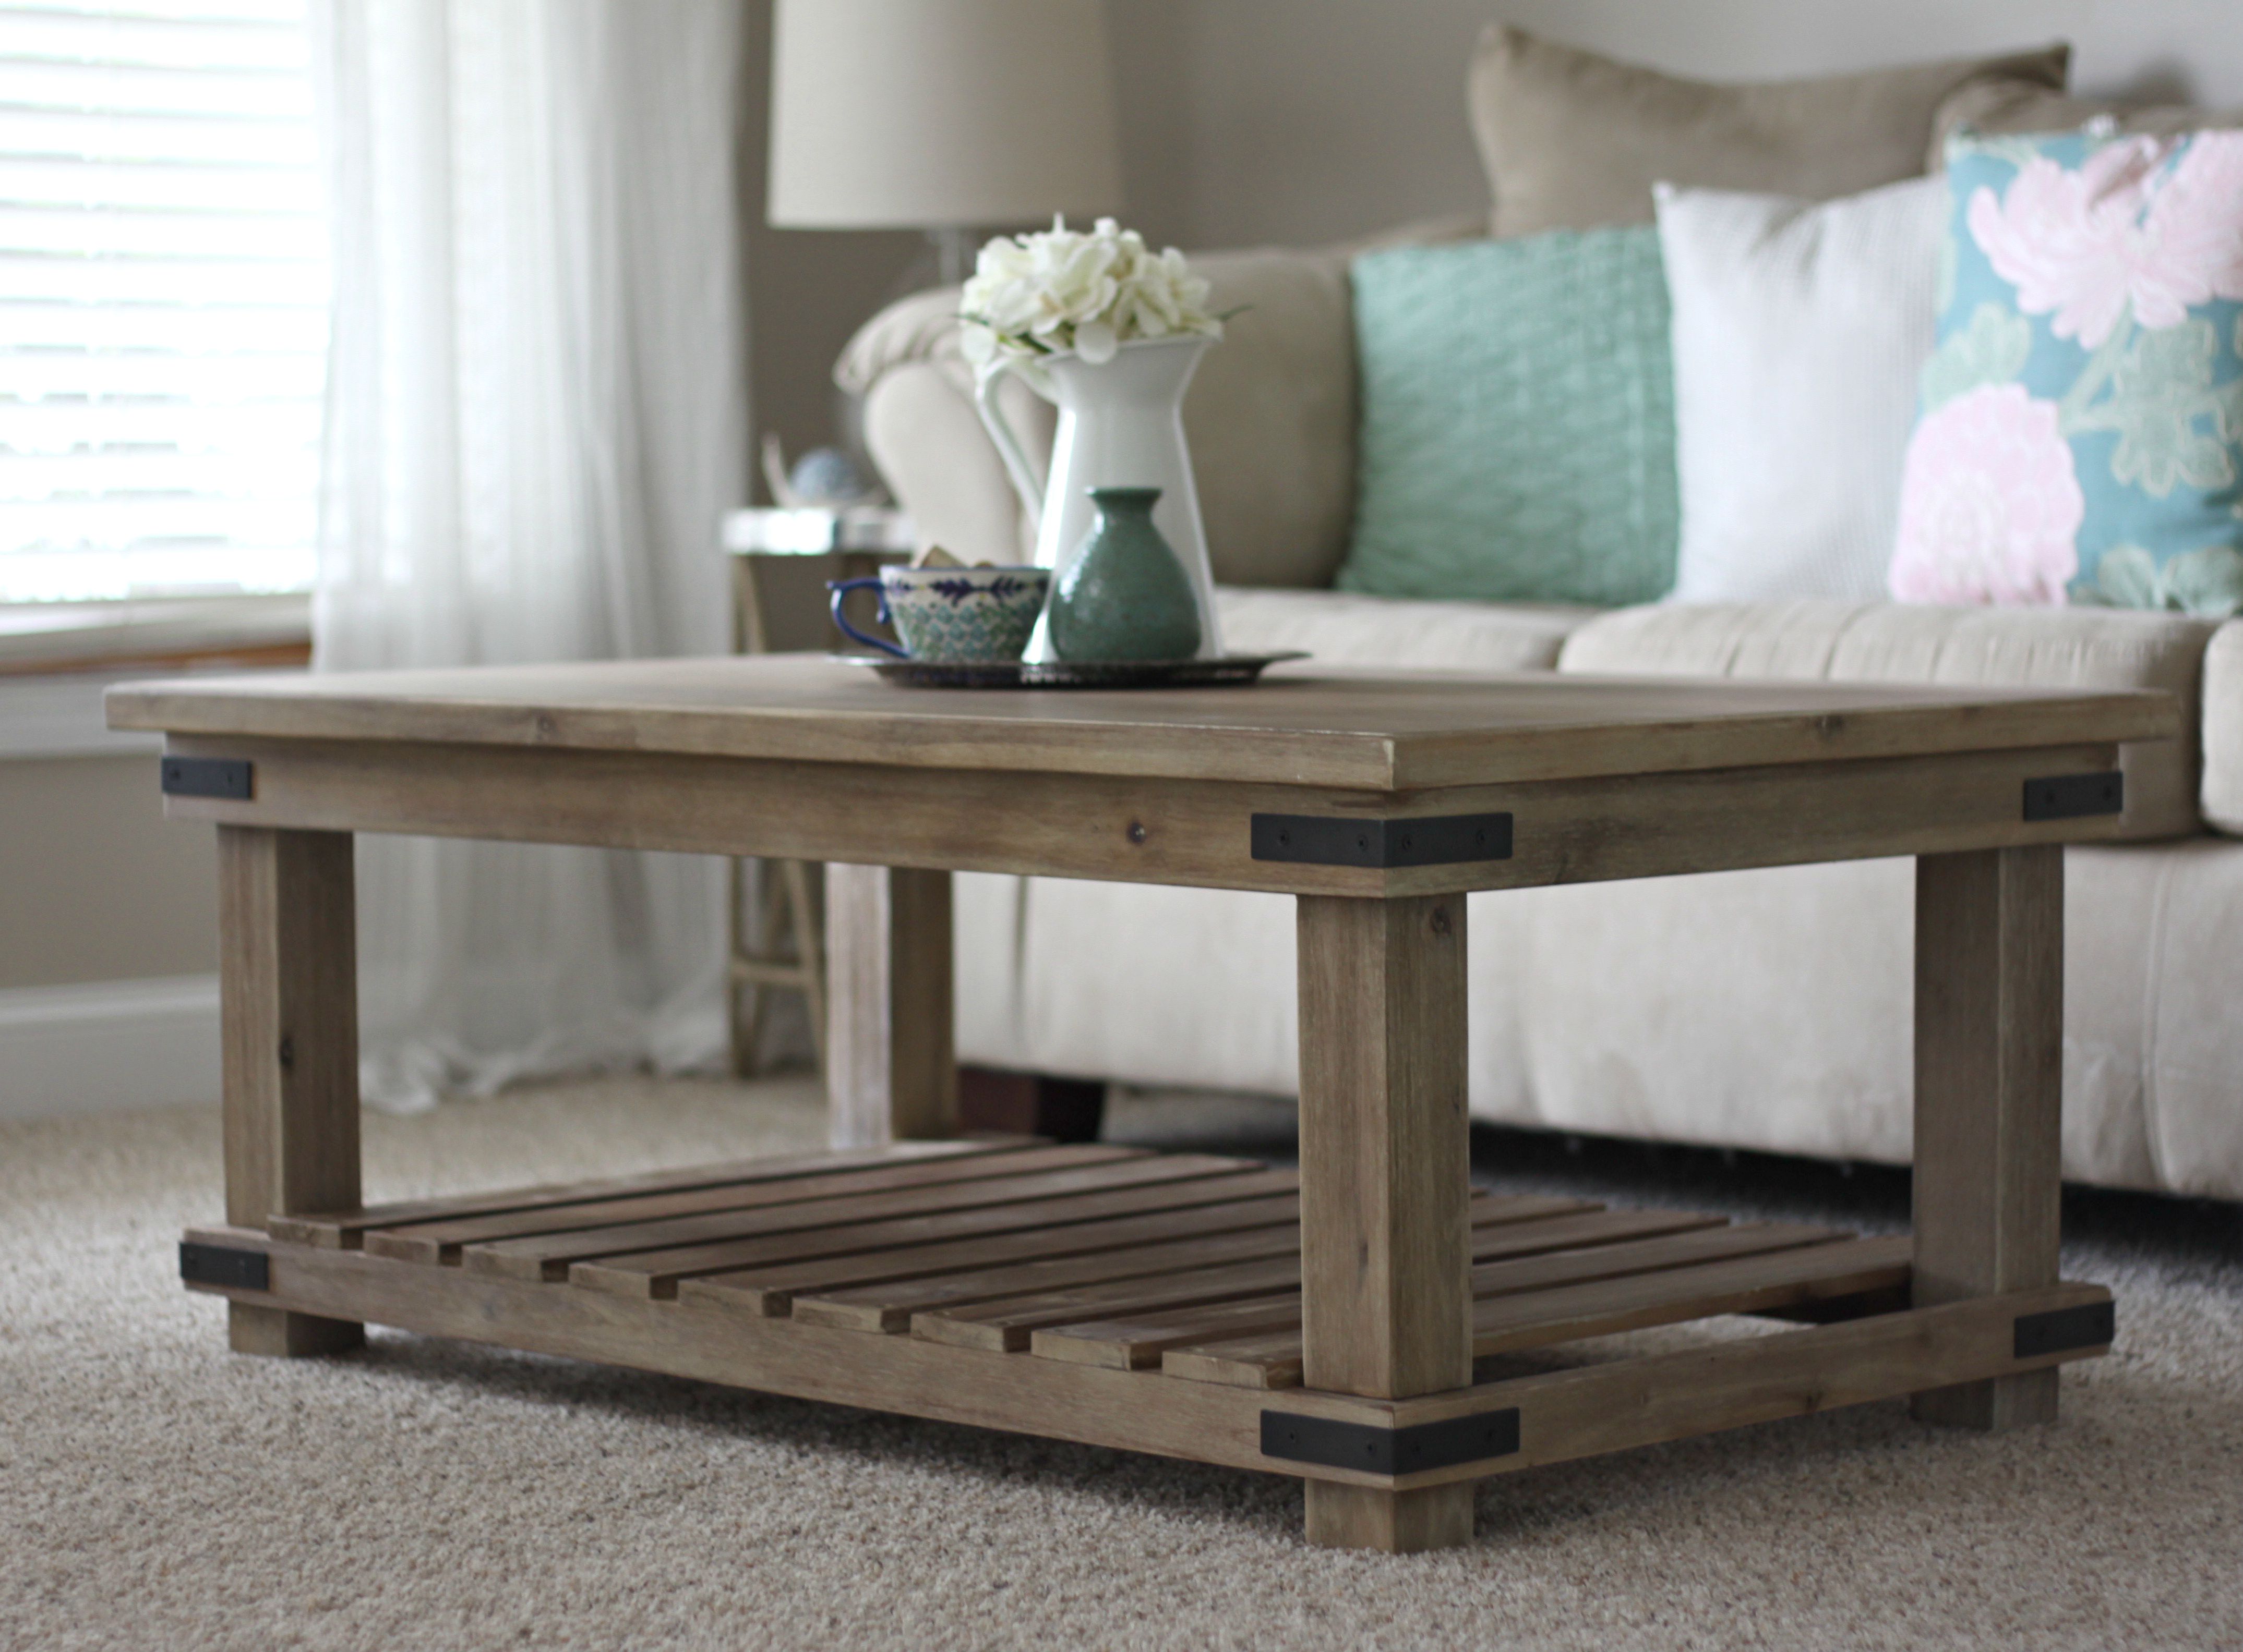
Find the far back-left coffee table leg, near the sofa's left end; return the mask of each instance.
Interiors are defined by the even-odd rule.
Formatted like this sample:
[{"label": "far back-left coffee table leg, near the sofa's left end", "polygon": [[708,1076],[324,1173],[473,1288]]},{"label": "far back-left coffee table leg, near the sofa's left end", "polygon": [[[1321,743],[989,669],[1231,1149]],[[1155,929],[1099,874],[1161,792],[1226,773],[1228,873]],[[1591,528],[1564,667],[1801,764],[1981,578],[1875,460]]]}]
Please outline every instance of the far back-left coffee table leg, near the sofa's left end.
[{"label": "far back-left coffee table leg, near the sofa's left end", "polygon": [[825,867],[825,1094],[834,1148],[958,1134],[949,872]]}]

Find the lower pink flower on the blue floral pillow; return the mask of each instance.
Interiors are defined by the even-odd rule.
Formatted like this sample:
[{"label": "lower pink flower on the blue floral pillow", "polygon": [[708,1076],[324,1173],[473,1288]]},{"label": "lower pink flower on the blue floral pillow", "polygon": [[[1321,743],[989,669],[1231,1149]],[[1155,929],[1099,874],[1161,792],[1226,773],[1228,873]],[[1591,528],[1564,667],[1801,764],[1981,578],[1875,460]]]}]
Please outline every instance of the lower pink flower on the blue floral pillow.
[{"label": "lower pink flower on the blue floral pillow", "polygon": [[2079,572],[2086,500],[2057,403],[1996,383],[1916,426],[1886,576],[1902,603],[2059,605]]}]

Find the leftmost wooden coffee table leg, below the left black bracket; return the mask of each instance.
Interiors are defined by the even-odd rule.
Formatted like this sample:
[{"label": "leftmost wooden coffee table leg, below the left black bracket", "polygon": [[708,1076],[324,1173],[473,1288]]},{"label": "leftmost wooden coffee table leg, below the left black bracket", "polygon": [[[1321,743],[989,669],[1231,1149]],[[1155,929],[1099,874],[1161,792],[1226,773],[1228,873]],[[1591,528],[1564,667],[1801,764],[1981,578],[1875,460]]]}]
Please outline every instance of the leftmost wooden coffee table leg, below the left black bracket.
[{"label": "leftmost wooden coffee table leg, below the left black bracket", "polygon": [[[227,1222],[359,1206],[359,957],[348,832],[218,827]],[[332,1354],[366,1327],[231,1302],[242,1354]]]}]

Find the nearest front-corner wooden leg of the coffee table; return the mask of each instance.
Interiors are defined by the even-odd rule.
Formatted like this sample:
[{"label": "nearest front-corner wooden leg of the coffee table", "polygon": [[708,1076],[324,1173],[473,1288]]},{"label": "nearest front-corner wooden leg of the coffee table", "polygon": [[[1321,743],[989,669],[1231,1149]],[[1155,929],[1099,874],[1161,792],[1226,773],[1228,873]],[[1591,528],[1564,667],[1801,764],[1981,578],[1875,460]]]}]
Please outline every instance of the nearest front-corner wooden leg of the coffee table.
[{"label": "nearest front-corner wooden leg of the coffee table", "polygon": [[[1301,1336],[1308,1388],[1471,1381],[1465,897],[1299,897]],[[1308,1540],[1471,1540],[1471,1484],[1308,1482]]]}]

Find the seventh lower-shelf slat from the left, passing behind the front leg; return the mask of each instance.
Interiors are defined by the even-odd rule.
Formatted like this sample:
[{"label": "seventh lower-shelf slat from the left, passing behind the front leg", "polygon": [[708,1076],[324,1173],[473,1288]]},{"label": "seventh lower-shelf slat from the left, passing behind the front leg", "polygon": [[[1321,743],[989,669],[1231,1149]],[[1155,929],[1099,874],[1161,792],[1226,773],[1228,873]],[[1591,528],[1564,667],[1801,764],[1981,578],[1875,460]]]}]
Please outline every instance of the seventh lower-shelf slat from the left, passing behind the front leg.
[{"label": "seventh lower-shelf slat from the left, passing behind the front leg", "polygon": [[[1658,1210],[1599,1210],[1588,1217],[1559,1217],[1552,1222],[1492,1224],[1471,1231],[1474,1260],[1532,1255],[1536,1251],[1561,1251],[1566,1246],[1599,1244],[1617,1237],[1644,1233],[1680,1233],[1687,1228],[1718,1226],[1720,1217]],[[1602,1237],[1590,1237],[1602,1235]],[[1299,1235],[1294,1235],[1299,1237]],[[1837,1235],[1830,1235],[1837,1237]],[[996,1293],[994,1300],[962,1302],[913,1316],[913,1336],[956,1347],[987,1347],[1018,1352],[1030,1345],[1030,1336],[1045,1327],[1079,1325],[1086,1320],[1164,1318],[1169,1311],[1234,1302],[1245,1298],[1281,1296],[1301,1289],[1301,1253],[1294,1244],[1283,1255],[1256,1262],[1225,1257],[1211,1249],[1196,1255],[1182,1251],[1173,1266],[1137,1266],[1122,1278],[1108,1278],[1077,1289],[1056,1289],[1043,1296]],[[1474,1282],[1478,1282],[1474,1273]],[[1299,1325],[1299,1316],[1292,1320]]]}]

